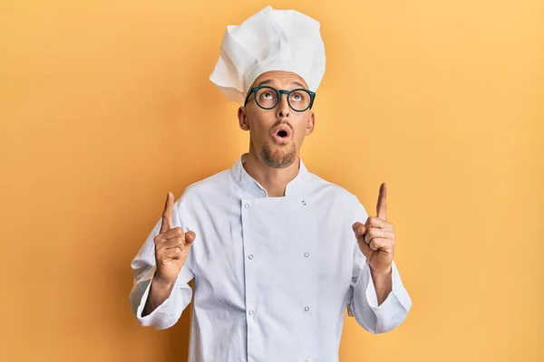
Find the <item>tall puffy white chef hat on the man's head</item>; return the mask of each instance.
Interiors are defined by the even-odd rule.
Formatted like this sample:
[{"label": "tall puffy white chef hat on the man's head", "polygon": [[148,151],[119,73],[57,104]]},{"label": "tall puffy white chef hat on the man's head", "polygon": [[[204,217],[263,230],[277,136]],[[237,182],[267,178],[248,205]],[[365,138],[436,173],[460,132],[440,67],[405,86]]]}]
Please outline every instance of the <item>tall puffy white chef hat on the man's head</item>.
[{"label": "tall puffy white chef hat on the man's head", "polygon": [[295,10],[267,6],[240,25],[228,25],[209,80],[228,100],[243,105],[249,87],[265,71],[292,71],[316,91],[325,73],[319,23]]}]

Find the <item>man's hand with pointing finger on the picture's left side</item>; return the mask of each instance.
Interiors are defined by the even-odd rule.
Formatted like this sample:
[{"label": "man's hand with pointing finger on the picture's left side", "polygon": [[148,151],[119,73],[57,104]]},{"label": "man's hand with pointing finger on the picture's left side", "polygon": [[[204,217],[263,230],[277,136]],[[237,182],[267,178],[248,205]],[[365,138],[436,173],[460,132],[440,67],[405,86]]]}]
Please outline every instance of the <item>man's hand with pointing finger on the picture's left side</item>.
[{"label": "man's hand with pointing finger on the picture's left side", "polygon": [[184,233],[181,227],[172,229],[172,209],[174,206],[174,195],[168,193],[160,232],[155,236],[155,262],[157,271],[155,271],[154,280],[160,284],[170,285],[176,280],[181,271],[181,267],[187,260],[190,245],[195,241],[197,235],[193,232]]}]

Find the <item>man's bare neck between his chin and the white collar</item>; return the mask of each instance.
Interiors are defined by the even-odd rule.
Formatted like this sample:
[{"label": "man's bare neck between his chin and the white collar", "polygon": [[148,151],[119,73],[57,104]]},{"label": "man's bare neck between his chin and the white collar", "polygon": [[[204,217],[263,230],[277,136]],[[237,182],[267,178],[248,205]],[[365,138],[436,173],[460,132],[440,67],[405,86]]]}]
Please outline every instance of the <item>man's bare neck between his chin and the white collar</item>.
[{"label": "man's bare neck between his chin and the white collar", "polygon": [[242,166],[249,176],[267,190],[269,197],[282,197],[286,195],[287,184],[298,175],[299,160],[297,155],[295,162],[286,168],[269,167],[250,149],[242,155]]}]

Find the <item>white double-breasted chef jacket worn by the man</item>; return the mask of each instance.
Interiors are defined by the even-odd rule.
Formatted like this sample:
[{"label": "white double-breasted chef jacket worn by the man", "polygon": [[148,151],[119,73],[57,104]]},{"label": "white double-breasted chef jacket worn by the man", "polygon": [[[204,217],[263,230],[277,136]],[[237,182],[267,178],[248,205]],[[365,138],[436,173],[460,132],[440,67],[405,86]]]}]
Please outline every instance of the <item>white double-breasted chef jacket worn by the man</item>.
[{"label": "white double-breasted chef jacket worn by the man", "polygon": [[131,268],[131,308],[143,326],[168,329],[194,301],[190,362],[332,362],[345,308],[372,333],[401,324],[412,306],[393,262],[393,291],[378,306],[352,224],[358,198],[307,171],[302,159],[285,196],[268,197],[242,166],[188,186],[173,227],[197,237],[167,300],[142,317],[155,272],[153,237]]}]

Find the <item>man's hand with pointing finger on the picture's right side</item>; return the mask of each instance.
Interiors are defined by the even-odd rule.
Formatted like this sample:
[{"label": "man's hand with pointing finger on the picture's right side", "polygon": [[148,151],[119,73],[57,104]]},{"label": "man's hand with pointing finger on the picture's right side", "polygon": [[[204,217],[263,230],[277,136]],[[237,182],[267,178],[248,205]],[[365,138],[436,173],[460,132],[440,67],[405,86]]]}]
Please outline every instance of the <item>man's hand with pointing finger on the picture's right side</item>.
[{"label": "man's hand with pointing finger on the picture's right side", "polygon": [[355,237],[371,269],[375,272],[391,271],[394,250],[394,226],[387,223],[387,186],[380,186],[377,216],[369,216],[364,224],[353,224]]}]

